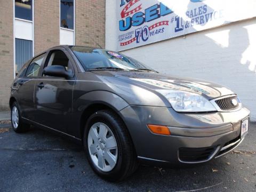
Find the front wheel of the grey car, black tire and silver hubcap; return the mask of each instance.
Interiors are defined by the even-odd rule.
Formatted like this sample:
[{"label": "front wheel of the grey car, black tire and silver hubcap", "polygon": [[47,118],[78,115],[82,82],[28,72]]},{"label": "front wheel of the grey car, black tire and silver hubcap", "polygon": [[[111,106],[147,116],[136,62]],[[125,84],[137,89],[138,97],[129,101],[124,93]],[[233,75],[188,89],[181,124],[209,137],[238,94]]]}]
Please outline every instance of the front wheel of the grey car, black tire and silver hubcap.
[{"label": "front wheel of the grey car, black tire and silver hubcap", "polygon": [[[106,137],[102,137],[103,132]],[[109,139],[113,141],[111,145],[108,143]],[[121,181],[138,167],[130,134],[122,119],[111,110],[100,110],[89,117],[85,125],[83,145],[93,171],[103,179]],[[109,155],[110,150],[113,151]],[[112,157],[111,161],[109,156]],[[99,163],[102,159],[103,165]]]}]

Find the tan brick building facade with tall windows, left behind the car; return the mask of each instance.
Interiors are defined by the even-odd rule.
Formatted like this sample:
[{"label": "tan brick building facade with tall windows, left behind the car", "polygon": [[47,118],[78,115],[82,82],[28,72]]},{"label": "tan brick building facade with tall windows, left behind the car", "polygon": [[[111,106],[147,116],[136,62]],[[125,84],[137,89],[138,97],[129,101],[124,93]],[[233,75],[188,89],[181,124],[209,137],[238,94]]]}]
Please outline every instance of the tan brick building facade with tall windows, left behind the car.
[{"label": "tan brick building facade with tall windows, left behind the car", "polygon": [[105,0],[0,0],[0,110],[23,63],[60,44],[105,47]]}]

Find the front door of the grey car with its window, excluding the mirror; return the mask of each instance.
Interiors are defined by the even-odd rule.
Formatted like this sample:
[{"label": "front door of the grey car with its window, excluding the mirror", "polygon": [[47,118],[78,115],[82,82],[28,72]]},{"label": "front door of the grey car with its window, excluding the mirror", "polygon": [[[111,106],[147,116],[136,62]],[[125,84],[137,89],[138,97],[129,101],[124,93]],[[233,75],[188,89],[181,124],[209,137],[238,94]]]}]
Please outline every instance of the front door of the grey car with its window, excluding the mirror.
[{"label": "front door of the grey car with its window, excluding the mirror", "polygon": [[62,47],[52,49],[47,55],[45,67],[62,65],[72,72],[73,77],[38,77],[35,84],[35,116],[36,122],[50,129],[66,132],[71,119],[73,85],[76,68],[69,53]]}]

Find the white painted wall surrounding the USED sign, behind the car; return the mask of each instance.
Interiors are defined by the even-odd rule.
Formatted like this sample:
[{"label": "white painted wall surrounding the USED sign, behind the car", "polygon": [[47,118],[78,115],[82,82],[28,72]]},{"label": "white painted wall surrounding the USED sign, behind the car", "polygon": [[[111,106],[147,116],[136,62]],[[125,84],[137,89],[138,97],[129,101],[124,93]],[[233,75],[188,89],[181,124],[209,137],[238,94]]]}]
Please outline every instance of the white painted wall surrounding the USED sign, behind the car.
[{"label": "white painted wall surrounding the USED sign, behind the car", "polygon": [[[116,48],[115,1],[106,0],[106,49]],[[229,87],[256,121],[256,18],[122,53],[157,71]]]}]

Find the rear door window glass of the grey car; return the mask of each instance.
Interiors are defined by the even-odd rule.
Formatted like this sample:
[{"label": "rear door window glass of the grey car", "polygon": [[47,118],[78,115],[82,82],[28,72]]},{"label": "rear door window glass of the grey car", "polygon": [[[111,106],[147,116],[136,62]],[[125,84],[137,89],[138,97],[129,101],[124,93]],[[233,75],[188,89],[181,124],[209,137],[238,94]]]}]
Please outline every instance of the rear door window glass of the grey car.
[{"label": "rear door window glass of the grey car", "polygon": [[45,58],[45,54],[42,54],[31,61],[31,63],[28,66],[28,69],[27,69],[26,77],[37,77],[38,76],[40,66],[43,63],[44,58]]}]

